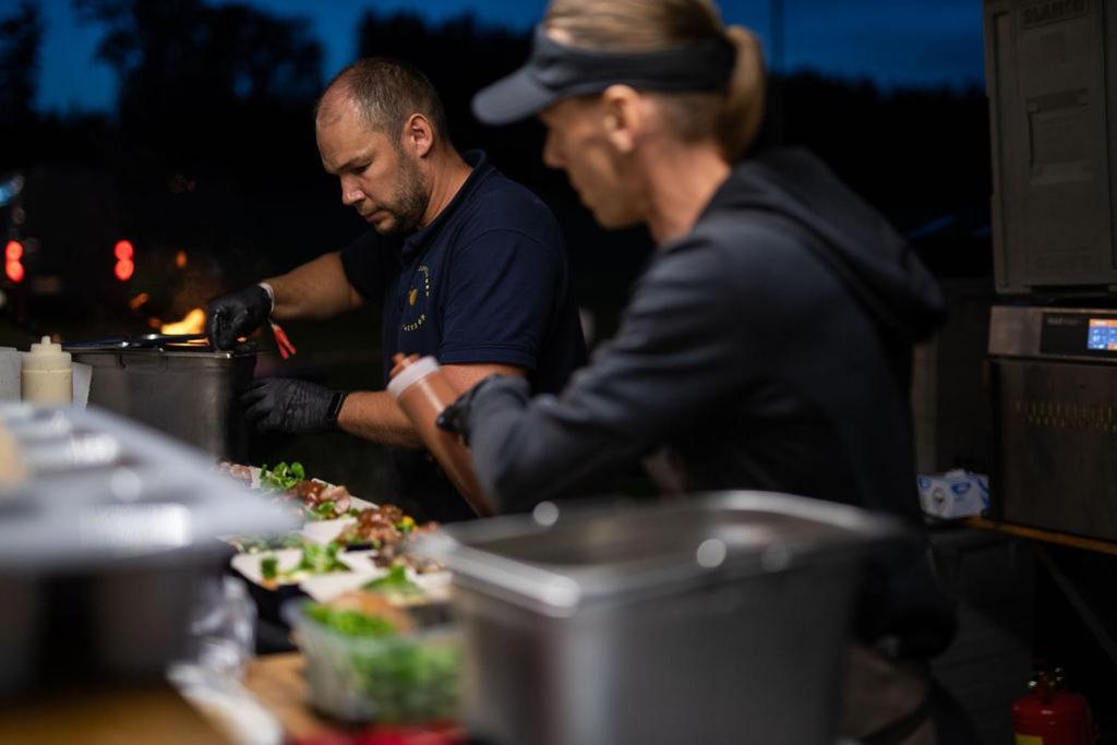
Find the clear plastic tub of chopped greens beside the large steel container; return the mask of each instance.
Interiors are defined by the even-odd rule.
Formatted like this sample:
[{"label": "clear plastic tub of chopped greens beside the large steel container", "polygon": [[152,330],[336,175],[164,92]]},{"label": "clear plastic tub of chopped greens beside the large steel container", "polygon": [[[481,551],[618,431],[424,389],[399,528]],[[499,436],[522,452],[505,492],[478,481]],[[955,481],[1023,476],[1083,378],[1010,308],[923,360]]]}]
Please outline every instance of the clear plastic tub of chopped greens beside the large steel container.
[{"label": "clear plastic tub of chopped greens beside the large steel container", "polygon": [[283,615],[306,657],[311,704],[343,722],[419,723],[457,718],[461,638],[450,624],[392,637],[343,634],[306,614]]}]

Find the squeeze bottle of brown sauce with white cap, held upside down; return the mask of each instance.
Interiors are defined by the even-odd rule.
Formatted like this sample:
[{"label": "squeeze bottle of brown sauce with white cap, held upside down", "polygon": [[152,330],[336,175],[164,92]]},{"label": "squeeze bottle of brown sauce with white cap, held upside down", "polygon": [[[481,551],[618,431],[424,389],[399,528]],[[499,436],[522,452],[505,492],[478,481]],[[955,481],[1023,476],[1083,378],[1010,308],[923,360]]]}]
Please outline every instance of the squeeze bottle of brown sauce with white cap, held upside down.
[{"label": "squeeze bottle of brown sauce with white cap, held upside down", "polygon": [[474,512],[483,517],[491,515],[493,506],[477,484],[469,449],[457,434],[440,429],[436,423],[442,410],[458,398],[438,361],[431,356],[413,360],[397,355],[388,391],[395,397],[423,443]]}]

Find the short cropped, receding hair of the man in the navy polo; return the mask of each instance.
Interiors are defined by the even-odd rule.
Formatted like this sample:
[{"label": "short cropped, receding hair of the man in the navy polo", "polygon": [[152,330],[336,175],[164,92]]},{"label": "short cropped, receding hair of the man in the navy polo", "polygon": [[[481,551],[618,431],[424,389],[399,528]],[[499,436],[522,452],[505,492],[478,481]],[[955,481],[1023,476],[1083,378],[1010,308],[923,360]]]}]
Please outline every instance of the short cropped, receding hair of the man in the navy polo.
[{"label": "short cropped, receding hair of the man in the navy polo", "polygon": [[408,63],[385,57],[365,57],[347,66],[326,86],[314,115],[318,116],[326,93],[343,86],[356,103],[364,122],[389,135],[399,145],[403,125],[412,114],[426,116],[446,142],[450,135],[442,99],[426,75]]}]

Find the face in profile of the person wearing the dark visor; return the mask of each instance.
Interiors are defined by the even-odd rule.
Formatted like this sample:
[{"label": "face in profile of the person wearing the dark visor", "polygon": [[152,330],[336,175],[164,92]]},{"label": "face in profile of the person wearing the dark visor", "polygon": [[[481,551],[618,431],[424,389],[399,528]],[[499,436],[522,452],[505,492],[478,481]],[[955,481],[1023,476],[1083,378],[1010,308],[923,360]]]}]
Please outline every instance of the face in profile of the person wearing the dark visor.
[{"label": "face in profile of the person wearing the dark visor", "polygon": [[598,97],[566,98],[544,109],[547,127],[543,162],[566,172],[582,203],[605,228],[642,222],[639,183],[631,156],[621,154],[607,136],[607,113]]}]

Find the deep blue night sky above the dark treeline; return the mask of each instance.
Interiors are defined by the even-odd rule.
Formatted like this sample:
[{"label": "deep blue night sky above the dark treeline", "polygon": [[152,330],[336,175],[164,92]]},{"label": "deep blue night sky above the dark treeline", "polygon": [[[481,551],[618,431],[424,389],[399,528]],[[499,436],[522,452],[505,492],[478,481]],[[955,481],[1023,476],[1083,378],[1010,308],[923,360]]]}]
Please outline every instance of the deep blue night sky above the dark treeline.
[{"label": "deep blue night sky above the dark treeline", "polygon": [[[545,0],[251,0],[247,4],[308,19],[324,46],[327,77],[351,61],[357,22],[367,9],[417,9],[433,20],[471,12],[486,23],[526,29],[546,7]],[[748,26],[767,44],[767,0],[718,4],[726,22]],[[13,8],[16,0],[0,0],[0,8],[9,6]],[[60,113],[107,111],[115,78],[95,59],[101,29],[79,25],[69,0],[41,0],[41,7],[47,29],[37,107]],[[981,13],[980,0],[785,0],[785,69],[869,78],[885,87],[980,85]]]}]

